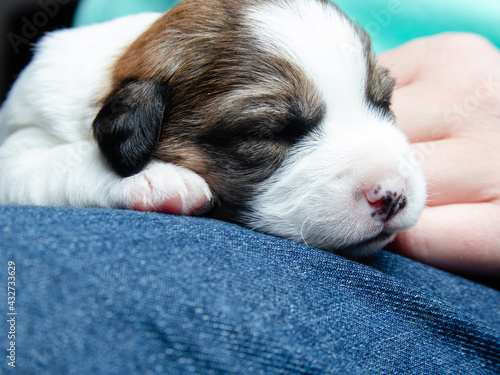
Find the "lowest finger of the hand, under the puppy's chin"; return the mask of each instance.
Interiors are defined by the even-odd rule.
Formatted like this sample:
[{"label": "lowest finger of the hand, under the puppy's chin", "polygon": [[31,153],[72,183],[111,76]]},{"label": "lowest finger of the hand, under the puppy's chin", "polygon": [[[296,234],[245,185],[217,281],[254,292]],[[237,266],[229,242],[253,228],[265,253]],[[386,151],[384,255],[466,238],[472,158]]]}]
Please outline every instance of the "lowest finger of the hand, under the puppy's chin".
[{"label": "lowest finger of the hand, under the puppy's chin", "polygon": [[449,271],[500,277],[500,204],[426,208],[393,248],[406,257]]}]

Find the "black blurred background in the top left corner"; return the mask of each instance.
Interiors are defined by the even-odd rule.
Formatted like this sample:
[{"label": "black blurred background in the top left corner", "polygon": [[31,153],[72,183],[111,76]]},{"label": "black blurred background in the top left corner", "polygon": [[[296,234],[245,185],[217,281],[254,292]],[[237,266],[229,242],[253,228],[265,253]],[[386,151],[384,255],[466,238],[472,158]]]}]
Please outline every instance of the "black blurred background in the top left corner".
[{"label": "black blurred background in the top left corner", "polygon": [[78,0],[0,0],[0,103],[50,30],[71,26]]}]

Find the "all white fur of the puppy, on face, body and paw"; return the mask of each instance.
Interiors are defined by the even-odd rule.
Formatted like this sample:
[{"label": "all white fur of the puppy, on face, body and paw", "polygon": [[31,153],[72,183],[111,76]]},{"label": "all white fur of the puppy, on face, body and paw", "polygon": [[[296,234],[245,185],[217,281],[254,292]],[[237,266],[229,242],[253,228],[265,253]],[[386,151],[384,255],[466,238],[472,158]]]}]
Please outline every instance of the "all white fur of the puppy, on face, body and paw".
[{"label": "all white fur of the puppy, on face, body and paw", "polygon": [[[0,110],[0,203],[155,209],[180,199],[178,213],[189,214],[214,199],[201,177],[167,163],[120,178],[92,138],[111,66],[159,16],[59,31],[40,42]],[[247,21],[268,31],[255,38],[302,67],[326,103],[319,129],[258,187],[247,224],[326,249],[386,233],[356,252],[378,250],[415,223],[425,184],[418,167],[405,168],[412,160],[404,135],[365,102],[366,61],[355,29],[334,8],[305,0],[255,6]],[[394,179],[408,187],[408,205],[383,222],[371,216],[363,191]]]}]

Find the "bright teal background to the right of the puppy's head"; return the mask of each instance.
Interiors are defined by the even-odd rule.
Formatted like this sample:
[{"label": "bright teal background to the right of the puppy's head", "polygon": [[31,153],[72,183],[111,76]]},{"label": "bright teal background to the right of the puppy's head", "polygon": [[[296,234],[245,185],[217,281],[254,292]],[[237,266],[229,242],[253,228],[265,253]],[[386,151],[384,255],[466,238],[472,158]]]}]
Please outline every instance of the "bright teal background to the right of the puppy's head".
[{"label": "bright teal background to the right of the puppy's head", "polygon": [[370,33],[375,51],[448,31],[473,32],[500,47],[500,0],[337,0]]}]

